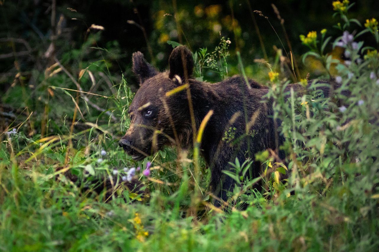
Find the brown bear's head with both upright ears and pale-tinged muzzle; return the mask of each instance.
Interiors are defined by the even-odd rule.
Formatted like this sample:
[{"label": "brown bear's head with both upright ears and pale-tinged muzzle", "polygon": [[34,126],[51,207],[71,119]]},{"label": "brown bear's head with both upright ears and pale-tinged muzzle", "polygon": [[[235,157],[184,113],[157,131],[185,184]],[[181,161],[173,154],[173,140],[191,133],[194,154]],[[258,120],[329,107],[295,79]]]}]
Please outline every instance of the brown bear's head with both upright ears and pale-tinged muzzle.
[{"label": "brown bear's head with both upright ears and pale-tinged muzzle", "polygon": [[158,72],[141,52],[133,54],[133,72],[141,87],[128,109],[130,127],[119,145],[134,160],[142,160],[168,143],[190,123],[185,90],[169,92],[188,83],[194,61],[185,46],[176,47],[169,57],[169,71]]}]

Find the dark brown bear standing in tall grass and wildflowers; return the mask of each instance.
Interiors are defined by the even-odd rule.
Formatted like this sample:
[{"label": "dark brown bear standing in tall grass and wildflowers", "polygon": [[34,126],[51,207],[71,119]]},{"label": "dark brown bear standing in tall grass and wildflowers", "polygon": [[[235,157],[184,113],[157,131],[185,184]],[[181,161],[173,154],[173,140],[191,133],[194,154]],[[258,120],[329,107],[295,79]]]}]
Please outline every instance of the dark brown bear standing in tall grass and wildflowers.
[{"label": "dark brown bear standing in tall grass and wildflowers", "polygon": [[[234,184],[222,173],[230,169],[228,162],[236,157],[240,162],[247,157],[254,160],[257,152],[266,149],[284,159],[279,151],[284,137],[278,133],[280,121],[273,119],[273,100],[263,98],[268,87],[251,79],[246,83],[241,76],[214,84],[197,81],[192,77],[193,56],[185,46],[172,51],[169,67],[158,72],[141,52],[133,54],[133,72],[141,87],[129,107],[130,128],[119,146],[134,160],[142,160],[170,143],[193,147],[194,131],[210,110],[213,114],[205,126],[200,150],[211,169],[211,192],[223,201]],[[178,87],[183,89],[170,93]],[[287,91],[291,87],[301,89],[301,85],[291,84]],[[251,170],[252,177],[259,176],[259,163],[254,162]]]}]

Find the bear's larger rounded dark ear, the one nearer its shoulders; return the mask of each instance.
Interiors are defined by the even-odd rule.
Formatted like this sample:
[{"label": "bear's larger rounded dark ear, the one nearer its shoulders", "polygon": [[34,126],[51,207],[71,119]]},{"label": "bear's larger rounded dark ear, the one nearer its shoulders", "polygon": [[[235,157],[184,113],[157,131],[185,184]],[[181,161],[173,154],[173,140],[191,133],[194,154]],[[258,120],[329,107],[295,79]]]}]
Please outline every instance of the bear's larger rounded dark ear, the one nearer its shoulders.
[{"label": "bear's larger rounded dark ear, the one nearer its shoulders", "polygon": [[174,48],[168,59],[170,65],[170,79],[173,79],[175,75],[182,78],[182,82],[186,82],[193,73],[193,56],[191,51],[184,45]]}]

